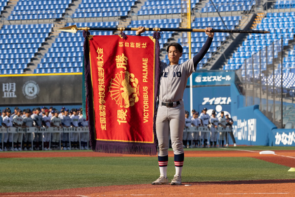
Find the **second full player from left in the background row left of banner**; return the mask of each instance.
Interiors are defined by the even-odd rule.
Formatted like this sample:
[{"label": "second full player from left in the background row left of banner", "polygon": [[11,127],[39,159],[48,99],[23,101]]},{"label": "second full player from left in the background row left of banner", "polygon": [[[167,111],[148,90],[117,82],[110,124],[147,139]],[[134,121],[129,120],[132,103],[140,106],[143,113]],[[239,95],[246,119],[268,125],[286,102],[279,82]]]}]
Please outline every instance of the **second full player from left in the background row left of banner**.
[{"label": "second full player from left in the background row left of banner", "polygon": [[[25,128],[23,126],[23,118],[22,118],[22,110],[17,109],[16,114],[13,116],[13,124],[16,128]],[[22,143],[23,133],[14,133],[13,135],[13,148],[14,151],[22,151],[21,143]],[[17,144],[18,142],[18,144]]]}]

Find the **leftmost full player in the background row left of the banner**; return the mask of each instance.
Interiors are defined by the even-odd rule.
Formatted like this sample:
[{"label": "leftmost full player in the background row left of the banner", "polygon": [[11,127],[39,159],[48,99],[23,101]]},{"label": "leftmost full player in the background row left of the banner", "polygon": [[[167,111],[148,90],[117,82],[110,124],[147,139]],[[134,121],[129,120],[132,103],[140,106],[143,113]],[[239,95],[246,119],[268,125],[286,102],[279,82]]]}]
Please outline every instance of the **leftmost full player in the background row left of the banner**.
[{"label": "leftmost full player in the background row left of the banner", "polygon": [[[13,119],[10,116],[11,110],[9,108],[7,108],[7,109],[5,109],[5,111],[6,111],[6,115],[3,118],[2,125],[5,128],[9,128],[9,127],[13,126]],[[3,138],[4,151],[7,151],[7,150],[13,151],[12,136],[13,136],[13,133],[4,133],[4,138]],[[8,144],[7,144],[7,142],[8,142]],[[8,145],[8,149],[7,149],[7,145]]]}]

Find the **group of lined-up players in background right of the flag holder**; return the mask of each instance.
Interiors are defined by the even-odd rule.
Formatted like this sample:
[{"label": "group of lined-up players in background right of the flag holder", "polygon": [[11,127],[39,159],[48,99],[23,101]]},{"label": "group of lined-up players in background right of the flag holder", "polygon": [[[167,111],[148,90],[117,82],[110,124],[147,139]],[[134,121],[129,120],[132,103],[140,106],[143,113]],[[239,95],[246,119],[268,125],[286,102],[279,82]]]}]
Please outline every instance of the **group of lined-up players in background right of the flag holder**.
[{"label": "group of lined-up players in background right of the flag holder", "polygon": [[[211,116],[207,114],[207,108],[202,110],[202,113],[199,117],[199,112],[196,112],[195,109],[192,110],[192,116],[189,117],[189,112],[185,111],[185,128],[189,127],[208,127],[210,130],[210,147],[217,146],[217,138],[220,134],[220,146],[224,147],[224,138],[226,139],[226,145],[228,146],[228,132],[220,132],[218,133],[217,127],[229,127],[230,128],[230,136],[234,142],[234,146],[236,146],[236,140],[233,135],[232,125],[234,121],[232,118],[229,118],[229,114],[224,114],[223,111],[220,112],[220,117],[216,117],[216,111],[212,110]],[[193,144],[192,144],[193,142]],[[183,132],[183,146],[185,148],[193,148],[193,147],[209,147],[208,145],[208,134],[207,132]]]}]

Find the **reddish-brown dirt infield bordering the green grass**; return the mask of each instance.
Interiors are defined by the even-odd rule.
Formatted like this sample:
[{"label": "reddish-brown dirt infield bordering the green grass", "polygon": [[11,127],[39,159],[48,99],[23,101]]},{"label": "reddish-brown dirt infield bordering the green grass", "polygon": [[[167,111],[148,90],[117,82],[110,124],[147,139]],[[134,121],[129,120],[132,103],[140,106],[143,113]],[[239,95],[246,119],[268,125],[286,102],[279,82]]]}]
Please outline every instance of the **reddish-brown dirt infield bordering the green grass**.
[{"label": "reddish-brown dirt infield bordering the green grass", "polygon": [[[169,152],[173,157],[173,152]],[[36,157],[155,157],[94,152],[2,152],[0,158]],[[185,151],[185,157],[251,157],[266,162],[295,167],[295,151],[275,151],[260,155],[259,151]],[[1,193],[1,197],[295,197],[295,179],[226,182],[187,182],[182,186],[122,185],[76,188],[33,193]]]}]

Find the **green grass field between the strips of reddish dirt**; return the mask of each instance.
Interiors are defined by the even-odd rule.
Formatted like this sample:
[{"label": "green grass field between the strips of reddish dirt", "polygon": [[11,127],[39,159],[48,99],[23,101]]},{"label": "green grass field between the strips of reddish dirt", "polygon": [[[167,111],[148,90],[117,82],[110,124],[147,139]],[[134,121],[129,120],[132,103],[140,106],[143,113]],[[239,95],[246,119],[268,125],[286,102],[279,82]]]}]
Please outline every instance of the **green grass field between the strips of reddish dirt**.
[{"label": "green grass field between the strips of reddish dirt", "polygon": [[[293,148],[285,148],[238,147],[238,149],[247,150],[294,150]],[[223,151],[224,149],[186,150]],[[168,178],[172,179],[175,167],[173,158],[169,158],[169,160]],[[295,174],[288,172],[289,168],[245,157],[186,157],[182,181],[294,179]],[[156,157],[1,158],[0,193],[150,184],[158,178],[158,175]]]}]

